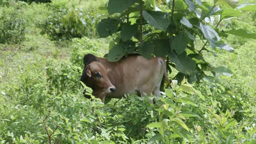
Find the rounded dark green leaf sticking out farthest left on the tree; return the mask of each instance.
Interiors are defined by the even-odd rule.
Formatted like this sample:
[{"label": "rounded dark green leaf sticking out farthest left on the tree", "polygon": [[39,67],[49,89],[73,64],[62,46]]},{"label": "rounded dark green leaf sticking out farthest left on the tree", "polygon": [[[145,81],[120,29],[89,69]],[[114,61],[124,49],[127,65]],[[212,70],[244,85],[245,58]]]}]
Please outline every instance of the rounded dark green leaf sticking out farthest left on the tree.
[{"label": "rounded dark green leaf sticking out farthest left on the tree", "polygon": [[100,35],[101,38],[104,38],[117,32],[119,22],[119,20],[110,18],[101,20],[97,27],[98,35]]}]

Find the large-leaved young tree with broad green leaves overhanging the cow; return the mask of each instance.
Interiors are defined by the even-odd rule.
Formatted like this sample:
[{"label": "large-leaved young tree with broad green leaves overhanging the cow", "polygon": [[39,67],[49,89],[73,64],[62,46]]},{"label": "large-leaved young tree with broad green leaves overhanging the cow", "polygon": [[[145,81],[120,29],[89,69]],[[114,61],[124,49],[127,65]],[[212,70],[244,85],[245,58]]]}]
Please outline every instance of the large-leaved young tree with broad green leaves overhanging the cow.
[{"label": "large-leaved young tree with broad green leaves overhanging the cow", "polygon": [[[146,58],[167,57],[167,62],[179,73],[174,77],[190,82],[216,73],[231,75],[225,67],[213,67],[203,58],[202,51],[211,49],[234,51],[221,38],[228,34],[255,39],[246,29],[221,31],[219,24],[242,15],[249,7],[237,7],[238,1],[216,0],[213,4],[201,1],[112,1],[108,2],[110,15],[98,23],[100,37],[114,33],[119,39],[108,53],[109,61],[118,61],[129,53],[139,53]],[[219,19],[217,18],[219,16]]]}]

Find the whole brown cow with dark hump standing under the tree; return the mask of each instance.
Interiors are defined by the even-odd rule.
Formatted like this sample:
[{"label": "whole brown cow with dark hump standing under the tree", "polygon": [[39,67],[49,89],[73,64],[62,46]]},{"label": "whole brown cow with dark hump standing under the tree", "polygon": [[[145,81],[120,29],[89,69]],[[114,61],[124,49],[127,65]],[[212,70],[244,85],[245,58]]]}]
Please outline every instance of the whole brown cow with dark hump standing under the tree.
[{"label": "whole brown cow with dark hump standing under the tree", "polygon": [[[95,62],[96,61],[96,62]],[[122,98],[124,94],[149,95],[160,94],[162,76],[171,87],[166,73],[166,63],[161,57],[146,59],[139,55],[130,55],[118,62],[109,62],[106,58],[92,54],[84,56],[87,65],[81,81],[92,88],[93,95],[103,103],[107,98]]]}]

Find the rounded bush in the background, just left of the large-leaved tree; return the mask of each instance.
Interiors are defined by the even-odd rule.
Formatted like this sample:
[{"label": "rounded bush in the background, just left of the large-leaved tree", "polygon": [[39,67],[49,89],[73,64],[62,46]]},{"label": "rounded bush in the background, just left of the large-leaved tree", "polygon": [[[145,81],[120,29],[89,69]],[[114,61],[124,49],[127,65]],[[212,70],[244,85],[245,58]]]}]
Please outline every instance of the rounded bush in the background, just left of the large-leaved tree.
[{"label": "rounded bush in the background, just left of the large-leaved tree", "polygon": [[95,7],[84,9],[66,3],[53,3],[50,7],[52,13],[40,25],[42,34],[54,40],[96,37],[96,25],[103,15]]}]

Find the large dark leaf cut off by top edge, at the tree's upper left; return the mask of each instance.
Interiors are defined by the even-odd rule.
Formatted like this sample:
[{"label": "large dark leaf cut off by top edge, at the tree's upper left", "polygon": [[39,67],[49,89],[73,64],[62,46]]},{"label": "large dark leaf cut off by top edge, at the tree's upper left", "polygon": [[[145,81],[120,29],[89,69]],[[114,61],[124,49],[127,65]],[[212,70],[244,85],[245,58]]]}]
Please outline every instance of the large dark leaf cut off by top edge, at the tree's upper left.
[{"label": "large dark leaf cut off by top edge, at the tree's upper left", "polygon": [[109,0],[108,13],[112,15],[114,13],[123,13],[123,11],[131,7],[135,3],[135,0]]}]

